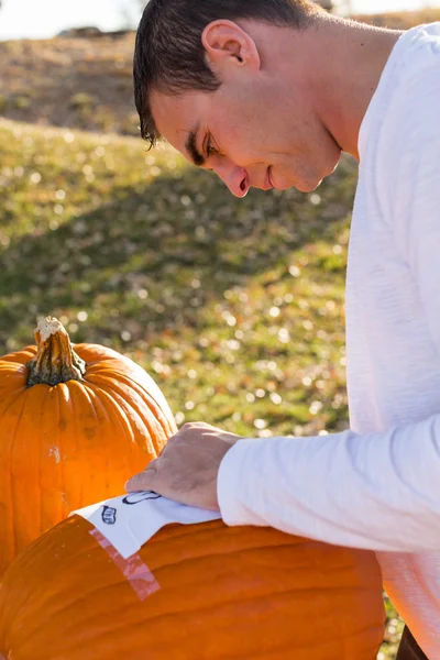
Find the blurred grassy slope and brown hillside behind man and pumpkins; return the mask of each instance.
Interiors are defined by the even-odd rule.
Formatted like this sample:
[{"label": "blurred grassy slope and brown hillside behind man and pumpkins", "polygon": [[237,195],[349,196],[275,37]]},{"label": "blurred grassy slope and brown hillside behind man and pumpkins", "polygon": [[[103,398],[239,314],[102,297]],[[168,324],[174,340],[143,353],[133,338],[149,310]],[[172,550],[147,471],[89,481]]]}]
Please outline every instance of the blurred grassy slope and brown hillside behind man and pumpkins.
[{"label": "blurred grassy slope and brown hillside behind man and pumpkins", "polygon": [[[130,30],[74,30],[0,42],[0,353],[33,343],[36,319],[52,315],[74,342],[142,364],[178,425],[248,437],[346,428],[356,163],[344,157],[311,195],[238,200],[167,145],[147,152],[133,41]],[[403,627],[386,607],[380,660],[395,657]]]}]

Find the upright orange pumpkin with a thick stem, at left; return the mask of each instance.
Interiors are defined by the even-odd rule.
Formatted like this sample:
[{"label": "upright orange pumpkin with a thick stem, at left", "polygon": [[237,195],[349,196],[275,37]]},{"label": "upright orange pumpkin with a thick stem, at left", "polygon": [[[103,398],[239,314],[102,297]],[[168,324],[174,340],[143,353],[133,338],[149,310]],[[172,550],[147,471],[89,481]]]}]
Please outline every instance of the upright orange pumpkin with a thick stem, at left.
[{"label": "upright orange pumpkin with a thick stem, at left", "polygon": [[176,431],[162,392],[101,345],[72,346],[56,319],[0,358],[0,575],[77,508],[118,495]]}]

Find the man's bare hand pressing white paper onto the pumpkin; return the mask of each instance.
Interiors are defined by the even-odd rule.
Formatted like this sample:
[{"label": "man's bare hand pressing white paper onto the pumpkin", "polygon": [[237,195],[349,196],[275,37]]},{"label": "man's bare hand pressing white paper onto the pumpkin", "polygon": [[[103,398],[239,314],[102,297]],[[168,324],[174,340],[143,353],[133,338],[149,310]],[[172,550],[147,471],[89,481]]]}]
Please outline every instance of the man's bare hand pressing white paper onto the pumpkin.
[{"label": "man's bare hand pressing white paper onto the pumpkin", "polygon": [[238,440],[240,436],[202,421],[186,424],[169,438],[157,459],[127,482],[125,490],[154,491],[182,504],[219,510],[220,463]]}]

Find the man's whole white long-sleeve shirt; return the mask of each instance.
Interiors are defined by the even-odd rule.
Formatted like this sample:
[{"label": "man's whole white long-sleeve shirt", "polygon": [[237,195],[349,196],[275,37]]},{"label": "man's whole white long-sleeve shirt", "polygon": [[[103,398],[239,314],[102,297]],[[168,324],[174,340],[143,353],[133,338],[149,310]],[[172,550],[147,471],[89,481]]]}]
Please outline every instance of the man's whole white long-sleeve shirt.
[{"label": "man's whole white long-sleeve shirt", "polygon": [[400,36],[364,117],[346,276],[350,427],[242,440],[218,480],[228,525],[377,552],[440,659],[440,23]]}]

